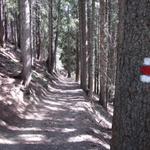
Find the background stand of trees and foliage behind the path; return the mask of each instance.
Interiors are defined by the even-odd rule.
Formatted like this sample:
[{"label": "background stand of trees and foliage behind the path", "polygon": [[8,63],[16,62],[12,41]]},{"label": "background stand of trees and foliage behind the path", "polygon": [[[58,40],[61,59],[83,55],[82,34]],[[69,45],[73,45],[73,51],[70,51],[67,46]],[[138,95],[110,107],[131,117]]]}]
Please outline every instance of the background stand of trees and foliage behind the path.
[{"label": "background stand of trees and foliage behind the path", "polygon": [[[8,0],[1,6],[1,45],[9,41],[17,49],[21,41],[29,39],[22,56],[24,82],[36,60],[45,61],[48,72],[53,74],[60,59],[67,76],[80,80],[89,96],[93,92],[99,95],[100,104],[106,108],[115,89],[117,1],[35,0],[25,6]],[[22,7],[27,7],[27,14]],[[23,26],[25,31],[21,31]]]}]

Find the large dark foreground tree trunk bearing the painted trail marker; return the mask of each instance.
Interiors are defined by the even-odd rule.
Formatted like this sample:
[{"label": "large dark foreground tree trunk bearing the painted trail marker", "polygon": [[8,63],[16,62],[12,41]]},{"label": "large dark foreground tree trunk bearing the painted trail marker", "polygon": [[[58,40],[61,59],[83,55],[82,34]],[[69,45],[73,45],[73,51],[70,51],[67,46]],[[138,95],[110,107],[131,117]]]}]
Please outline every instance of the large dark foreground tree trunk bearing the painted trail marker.
[{"label": "large dark foreground tree trunk bearing the painted trail marker", "polygon": [[116,99],[111,150],[150,150],[150,84],[139,68],[150,56],[150,1],[120,0]]}]

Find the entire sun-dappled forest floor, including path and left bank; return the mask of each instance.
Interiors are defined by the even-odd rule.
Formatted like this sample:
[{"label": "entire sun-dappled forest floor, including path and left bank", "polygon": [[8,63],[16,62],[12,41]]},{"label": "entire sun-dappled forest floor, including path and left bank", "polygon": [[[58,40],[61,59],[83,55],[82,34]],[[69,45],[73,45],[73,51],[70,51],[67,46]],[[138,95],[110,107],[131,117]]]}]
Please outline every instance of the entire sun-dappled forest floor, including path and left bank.
[{"label": "entire sun-dappled forest floor, including path and left bank", "polygon": [[110,149],[111,113],[39,62],[26,93],[12,78],[21,70],[20,53],[12,49],[0,49],[0,150]]}]

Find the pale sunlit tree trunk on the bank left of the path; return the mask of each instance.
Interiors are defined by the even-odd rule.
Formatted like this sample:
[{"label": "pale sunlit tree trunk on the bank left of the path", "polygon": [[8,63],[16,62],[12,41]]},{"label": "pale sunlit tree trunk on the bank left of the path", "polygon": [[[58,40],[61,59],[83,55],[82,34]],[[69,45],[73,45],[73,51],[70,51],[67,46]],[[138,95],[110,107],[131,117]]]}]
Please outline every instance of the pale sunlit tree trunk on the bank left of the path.
[{"label": "pale sunlit tree trunk on the bank left of the path", "polygon": [[29,85],[31,77],[31,49],[30,49],[30,4],[29,0],[20,1],[20,23],[21,23],[21,51],[23,60],[22,79],[26,86]]}]

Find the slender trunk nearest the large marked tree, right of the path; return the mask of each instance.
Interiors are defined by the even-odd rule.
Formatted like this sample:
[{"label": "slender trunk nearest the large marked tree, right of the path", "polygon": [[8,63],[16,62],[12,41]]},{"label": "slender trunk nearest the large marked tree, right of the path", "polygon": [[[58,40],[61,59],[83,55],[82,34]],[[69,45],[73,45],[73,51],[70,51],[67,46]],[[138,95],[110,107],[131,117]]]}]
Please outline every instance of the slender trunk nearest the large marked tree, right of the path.
[{"label": "slender trunk nearest the large marked tree, right of the path", "polygon": [[106,2],[100,0],[100,104],[107,109],[107,47],[105,43]]}]

